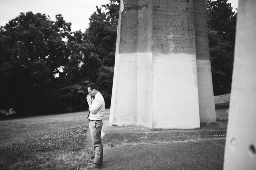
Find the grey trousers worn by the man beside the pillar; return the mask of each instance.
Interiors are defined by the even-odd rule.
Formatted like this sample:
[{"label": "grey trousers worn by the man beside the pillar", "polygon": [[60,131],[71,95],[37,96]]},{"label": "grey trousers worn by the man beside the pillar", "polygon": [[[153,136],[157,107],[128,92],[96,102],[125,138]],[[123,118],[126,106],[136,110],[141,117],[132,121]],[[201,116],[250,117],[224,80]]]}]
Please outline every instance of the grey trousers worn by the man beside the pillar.
[{"label": "grey trousers worn by the man beside the pillar", "polygon": [[91,120],[89,122],[89,128],[92,137],[92,146],[95,152],[93,163],[101,165],[103,162],[103,145],[101,143],[101,129],[102,129],[102,120]]}]

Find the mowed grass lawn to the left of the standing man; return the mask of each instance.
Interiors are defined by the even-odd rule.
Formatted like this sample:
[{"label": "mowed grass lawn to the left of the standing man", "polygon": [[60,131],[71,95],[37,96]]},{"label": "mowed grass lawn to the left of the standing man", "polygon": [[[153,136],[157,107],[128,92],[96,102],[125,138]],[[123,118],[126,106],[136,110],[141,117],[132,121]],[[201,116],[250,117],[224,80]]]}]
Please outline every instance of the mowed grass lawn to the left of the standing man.
[{"label": "mowed grass lawn to the left of the standing man", "polygon": [[85,138],[87,114],[0,121],[0,169],[86,169],[93,155]]}]

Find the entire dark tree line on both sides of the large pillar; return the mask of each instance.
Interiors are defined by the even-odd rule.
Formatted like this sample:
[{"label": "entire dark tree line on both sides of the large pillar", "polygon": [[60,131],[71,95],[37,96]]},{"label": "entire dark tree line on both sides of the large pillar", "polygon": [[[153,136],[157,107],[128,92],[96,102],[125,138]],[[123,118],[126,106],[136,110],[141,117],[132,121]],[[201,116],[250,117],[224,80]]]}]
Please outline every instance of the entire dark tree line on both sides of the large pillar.
[{"label": "entire dark tree line on both sides of the large pillar", "polygon": [[[85,32],[71,32],[61,14],[52,21],[31,11],[1,26],[0,109],[20,115],[85,110],[91,82],[110,107],[119,3],[96,7]],[[230,92],[236,13],[227,0],[207,0],[207,15],[213,88],[219,95]]]}]

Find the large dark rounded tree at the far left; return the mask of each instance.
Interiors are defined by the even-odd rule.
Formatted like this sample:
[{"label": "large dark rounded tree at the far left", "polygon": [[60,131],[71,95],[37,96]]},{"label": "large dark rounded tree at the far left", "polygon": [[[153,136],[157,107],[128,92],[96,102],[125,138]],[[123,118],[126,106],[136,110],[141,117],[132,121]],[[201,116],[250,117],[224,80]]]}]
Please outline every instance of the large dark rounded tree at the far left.
[{"label": "large dark rounded tree at the far left", "polygon": [[20,13],[0,28],[0,108],[41,113],[51,108],[55,75],[68,62],[66,44],[71,23],[59,14]]}]

